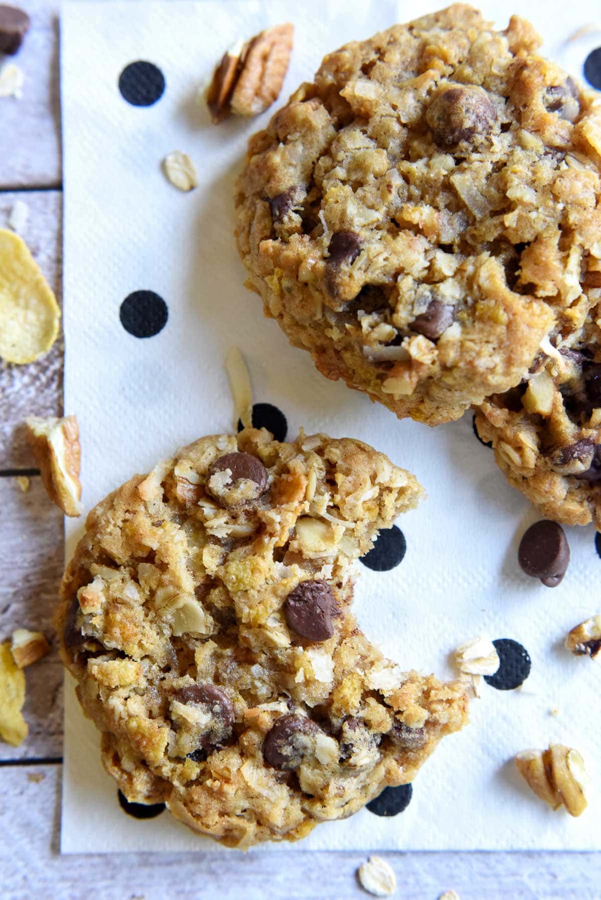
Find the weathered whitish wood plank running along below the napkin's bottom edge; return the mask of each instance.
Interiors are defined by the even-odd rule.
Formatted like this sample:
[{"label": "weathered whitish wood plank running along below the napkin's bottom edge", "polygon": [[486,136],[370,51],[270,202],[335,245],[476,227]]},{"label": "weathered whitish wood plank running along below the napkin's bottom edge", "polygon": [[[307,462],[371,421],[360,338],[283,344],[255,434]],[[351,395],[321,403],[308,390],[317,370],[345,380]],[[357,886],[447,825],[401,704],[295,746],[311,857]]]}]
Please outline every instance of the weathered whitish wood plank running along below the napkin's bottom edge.
[{"label": "weathered whitish wood plank running along below the napkin's bottom edge", "polygon": [[[356,852],[269,851],[144,853],[60,857],[61,767],[0,769],[2,896],[30,900],[351,900],[363,897]],[[41,780],[33,780],[40,779]],[[90,815],[94,815],[90,810]],[[164,814],[167,815],[167,814]],[[322,827],[327,828],[327,825]],[[15,852],[15,848],[20,849]],[[403,900],[437,900],[453,888],[461,900],[598,900],[598,853],[382,853]]]}]

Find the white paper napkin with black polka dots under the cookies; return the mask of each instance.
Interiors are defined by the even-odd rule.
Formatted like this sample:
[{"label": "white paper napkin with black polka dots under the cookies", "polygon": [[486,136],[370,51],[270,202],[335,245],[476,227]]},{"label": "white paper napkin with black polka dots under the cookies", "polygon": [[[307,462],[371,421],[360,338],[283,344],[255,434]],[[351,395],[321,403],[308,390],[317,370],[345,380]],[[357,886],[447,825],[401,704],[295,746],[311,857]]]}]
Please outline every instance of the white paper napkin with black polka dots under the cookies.
[{"label": "white paper napkin with black polka dots under the cookies", "polygon": [[[327,50],[437,5],[374,0],[352,4],[352,14],[337,0],[65,6],[65,409],[80,424],[89,509],[175,447],[236,427],[223,361],[237,346],[250,368],[255,424],[280,439],[301,426],[359,437],[425,486],[428,500],[358,565],[360,626],[406,669],[451,677],[452,651],[477,635],[496,641],[501,668],[473,702],[471,725],[443,741],[413,786],[387,789],[300,846],[599,849],[600,670],[562,648],[571,627],[600,611],[594,532],[569,530],[571,563],[558,588],[528,579],[517,544],[536,514],[506,485],[471,415],[434,430],[399,422],[288,346],[242,286],[232,238],[233,180],[269,112],[214,127],[196,103],[224,49],[268,24],[295,24],[285,97]],[[506,4],[483,5],[505,27]],[[600,84],[601,32],[566,42],[595,20],[593,4],[545,0],[528,14],[552,55]],[[173,150],[194,159],[195,191],[178,192],[162,174]],[[67,529],[72,548],[80,521]],[[590,805],[578,820],[543,806],[514,768],[516,752],[550,741],[576,747],[587,763]],[[213,846],[162,806],[140,809],[117,796],[68,684],[63,851]]]}]

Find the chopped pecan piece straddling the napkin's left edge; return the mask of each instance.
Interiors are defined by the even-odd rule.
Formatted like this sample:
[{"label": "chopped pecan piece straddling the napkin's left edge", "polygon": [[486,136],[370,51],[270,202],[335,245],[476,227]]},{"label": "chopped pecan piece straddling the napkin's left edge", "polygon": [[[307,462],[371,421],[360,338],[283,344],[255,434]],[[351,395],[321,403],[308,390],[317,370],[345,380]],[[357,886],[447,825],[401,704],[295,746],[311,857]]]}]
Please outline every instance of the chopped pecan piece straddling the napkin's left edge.
[{"label": "chopped pecan piece straddling the napkin's left edge", "polygon": [[27,419],[33,455],[40,466],[41,480],[53,503],[67,516],[81,515],[79,482],[79,428],[75,416],[65,419]]}]

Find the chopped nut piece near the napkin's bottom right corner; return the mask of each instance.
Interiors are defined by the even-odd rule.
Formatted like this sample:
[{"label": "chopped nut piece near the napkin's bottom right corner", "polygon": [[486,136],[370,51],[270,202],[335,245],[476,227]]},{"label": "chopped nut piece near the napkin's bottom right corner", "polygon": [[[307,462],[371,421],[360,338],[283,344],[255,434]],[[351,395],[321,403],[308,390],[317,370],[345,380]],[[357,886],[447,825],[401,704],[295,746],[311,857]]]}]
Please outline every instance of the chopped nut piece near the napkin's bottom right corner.
[{"label": "chopped nut piece near the napkin's bottom right corner", "polygon": [[578,816],[587,808],[587,773],[578,751],[551,743],[549,750],[518,753],[515,765],[534,794],[553,809],[565,806],[569,815]]}]

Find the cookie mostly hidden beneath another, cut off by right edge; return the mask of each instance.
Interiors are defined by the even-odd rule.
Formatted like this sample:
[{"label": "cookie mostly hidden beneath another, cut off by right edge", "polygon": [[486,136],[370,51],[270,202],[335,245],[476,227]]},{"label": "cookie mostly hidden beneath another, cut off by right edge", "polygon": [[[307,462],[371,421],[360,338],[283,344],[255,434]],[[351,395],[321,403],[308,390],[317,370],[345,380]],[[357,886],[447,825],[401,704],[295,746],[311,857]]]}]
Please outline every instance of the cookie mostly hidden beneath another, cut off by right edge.
[{"label": "cookie mostly hidden beneath another, cut off by right edge", "polygon": [[[601,262],[587,279],[601,295]],[[595,279],[594,279],[594,276]],[[523,383],[476,410],[478,435],[492,443],[507,480],[565,525],[601,530],[601,306],[584,328],[548,343]]]}]

